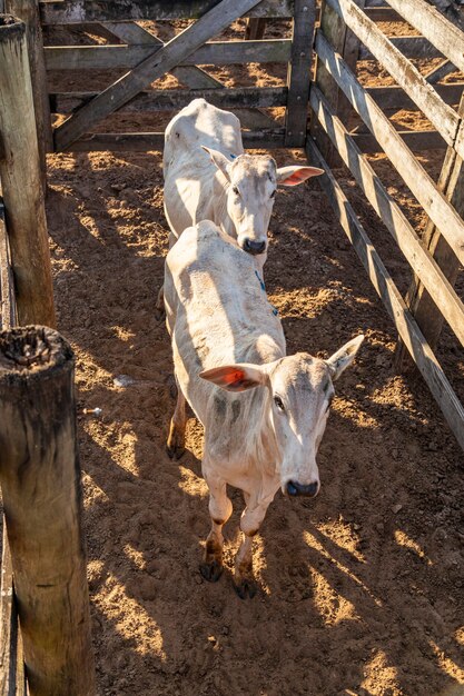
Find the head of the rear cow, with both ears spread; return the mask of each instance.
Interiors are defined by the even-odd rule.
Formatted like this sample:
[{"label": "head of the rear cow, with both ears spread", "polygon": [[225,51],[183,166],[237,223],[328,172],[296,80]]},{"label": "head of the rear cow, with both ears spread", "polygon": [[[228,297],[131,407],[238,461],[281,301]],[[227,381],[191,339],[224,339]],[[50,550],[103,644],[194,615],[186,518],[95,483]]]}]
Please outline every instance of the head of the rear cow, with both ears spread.
[{"label": "head of the rear cow, with both ears spread", "polygon": [[[234,159],[203,146],[227,180],[227,212],[241,249],[265,253],[267,230],[277,186],[297,186],[323,173],[317,167],[279,167],[269,155],[239,155]],[[230,233],[230,232],[229,232]]]}]

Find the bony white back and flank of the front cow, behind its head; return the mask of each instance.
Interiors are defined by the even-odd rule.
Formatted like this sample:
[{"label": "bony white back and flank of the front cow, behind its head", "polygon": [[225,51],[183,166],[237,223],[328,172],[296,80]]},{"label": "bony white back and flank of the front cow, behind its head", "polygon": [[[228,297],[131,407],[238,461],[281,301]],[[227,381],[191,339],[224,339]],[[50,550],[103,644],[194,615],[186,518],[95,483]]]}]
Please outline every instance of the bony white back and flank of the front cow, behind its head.
[{"label": "bony white back and flank of the front cow, behind its head", "polygon": [[176,374],[204,424],[207,402],[218,388],[197,377],[201,370],[261,362],[256,347],[265,344],[285,354],[282,325],[253,257],[209,220],[186,229],[170,249],[165,302]]}]

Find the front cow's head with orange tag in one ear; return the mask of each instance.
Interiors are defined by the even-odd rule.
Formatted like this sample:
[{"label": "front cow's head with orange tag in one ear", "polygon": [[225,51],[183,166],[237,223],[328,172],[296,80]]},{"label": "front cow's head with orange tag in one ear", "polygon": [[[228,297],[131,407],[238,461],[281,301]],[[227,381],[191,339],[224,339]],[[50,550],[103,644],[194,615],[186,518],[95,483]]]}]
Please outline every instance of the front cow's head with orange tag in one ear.
[{"label": "front cow's head with orange tag in one ear", "polygon": [[275,436],[282,490],[292,497],[315,496],[319,490],[316,454],[334,397],[333,382],[351,365],[363,340],[364,336],[357,336],[328,360],[297,352],[266,365],[237,364],[200,374],[229,391],[268,388],[266,416]]}]

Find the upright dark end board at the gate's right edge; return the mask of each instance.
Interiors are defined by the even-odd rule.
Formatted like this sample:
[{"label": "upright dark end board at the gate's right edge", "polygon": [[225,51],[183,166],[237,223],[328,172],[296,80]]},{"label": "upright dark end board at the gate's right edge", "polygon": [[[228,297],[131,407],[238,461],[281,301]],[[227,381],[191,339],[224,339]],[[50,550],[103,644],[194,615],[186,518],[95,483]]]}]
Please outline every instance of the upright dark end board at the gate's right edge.
[{"label": "upright dark end board at the gate's right edge", "polygon": [[288,63],[288,102],[285,112],[285,147],[304,147],[316,7],[314,0],[295,0],[292,60]]}]

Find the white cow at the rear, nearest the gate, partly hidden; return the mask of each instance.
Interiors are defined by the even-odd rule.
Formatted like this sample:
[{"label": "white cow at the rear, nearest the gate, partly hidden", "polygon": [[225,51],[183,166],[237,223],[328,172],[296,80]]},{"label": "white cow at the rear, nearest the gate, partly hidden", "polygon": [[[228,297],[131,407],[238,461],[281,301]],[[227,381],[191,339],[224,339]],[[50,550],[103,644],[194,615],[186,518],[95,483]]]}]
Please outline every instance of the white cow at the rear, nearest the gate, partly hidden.
[{"label": "white cow at the rear, nearest the gate, partly hidden", "polygon": [[316,167],[277,168],[269,155],[245,155],[238,118],[195,99],[166,128],[170,246],[190,225],[213,220],[263,267],[277,185],[296,186],[319,173]]}]

